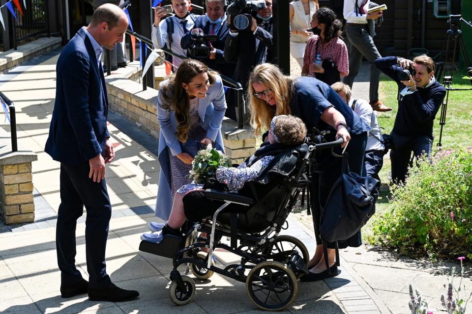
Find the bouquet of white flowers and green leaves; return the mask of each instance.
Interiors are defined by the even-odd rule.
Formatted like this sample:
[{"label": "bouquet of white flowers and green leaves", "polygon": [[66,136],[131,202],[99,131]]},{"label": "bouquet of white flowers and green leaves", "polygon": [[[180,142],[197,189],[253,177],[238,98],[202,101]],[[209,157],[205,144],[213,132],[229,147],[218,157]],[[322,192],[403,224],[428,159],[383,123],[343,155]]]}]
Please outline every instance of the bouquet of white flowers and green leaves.
[{"label": "bouquet of white flowers and green leaves", "polygon": [[197,184],[206,183],[209,178],[216,178],[219,166],[230,167],[230,158],[208,145],[207,149],[198,151],[193,159],[189,178]]}]

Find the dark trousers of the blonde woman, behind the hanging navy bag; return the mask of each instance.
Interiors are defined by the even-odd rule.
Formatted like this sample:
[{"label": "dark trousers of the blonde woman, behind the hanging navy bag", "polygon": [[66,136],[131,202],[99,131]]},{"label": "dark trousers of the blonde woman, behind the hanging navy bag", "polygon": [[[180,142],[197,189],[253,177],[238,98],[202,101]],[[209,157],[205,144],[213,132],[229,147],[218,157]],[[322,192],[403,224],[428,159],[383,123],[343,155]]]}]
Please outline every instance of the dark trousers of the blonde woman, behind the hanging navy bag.
[{"label": "dark trousers of the blonde woman, behind the hanging navy bag", "polygon": [[[352,135],[349,146],[346,152],[349,154],[349,169],[350,171],[360,175],[362,173],[362,162],[364,159],[365,146],[367,144],[367,132],[358,135]],[[341,176],[342,158],[331,155],[330,150],[326,150],[323,154],[329,154],[331,163],[327,164],[324,169],[319,169],[319,172],[312,173],[313,181],[311,184],[311,207],[312,219],[315,229],[316,244],[323,244],[320,237],[320,223],[324,205],[328,199],[334,183]],[[325,155],[326,157],[326,155]],[[324,158],[325,160],[326,158]],[[362,244],[360,231],[347,239],[346,241],[338,241],[340,249],[348,246],[357,247]],[[327,247],[334,249],[334,243],[328,242]]]}]

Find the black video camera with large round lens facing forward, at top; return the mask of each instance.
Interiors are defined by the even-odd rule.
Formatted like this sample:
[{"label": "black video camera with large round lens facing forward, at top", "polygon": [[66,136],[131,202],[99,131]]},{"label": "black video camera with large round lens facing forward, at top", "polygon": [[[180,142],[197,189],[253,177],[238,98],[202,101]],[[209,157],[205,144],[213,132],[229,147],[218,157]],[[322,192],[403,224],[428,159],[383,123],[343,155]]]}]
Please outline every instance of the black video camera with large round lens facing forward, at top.
[{"label": "black video camera with large round lens facing forward, at top", "polygon": [[250,31],[252,13],[266,7],[266,0],[235,0],[228,6],[227,12],[231,15],[230,29],[236,31]]}]

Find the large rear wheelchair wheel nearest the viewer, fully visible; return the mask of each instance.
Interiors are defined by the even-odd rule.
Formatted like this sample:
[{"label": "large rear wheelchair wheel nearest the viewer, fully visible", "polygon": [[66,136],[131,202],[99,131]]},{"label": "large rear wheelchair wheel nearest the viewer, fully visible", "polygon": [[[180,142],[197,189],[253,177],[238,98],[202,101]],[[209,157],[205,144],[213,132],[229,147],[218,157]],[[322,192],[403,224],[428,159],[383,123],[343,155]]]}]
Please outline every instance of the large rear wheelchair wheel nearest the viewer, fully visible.
[{"label": "large rear wheelchair wheel nearest the viewer, fully visible", "polygon": [[246,292],[258,308],[281,311],[295,300],[298,283],[286,265],[266,261],[257,264],[247,275]]}]

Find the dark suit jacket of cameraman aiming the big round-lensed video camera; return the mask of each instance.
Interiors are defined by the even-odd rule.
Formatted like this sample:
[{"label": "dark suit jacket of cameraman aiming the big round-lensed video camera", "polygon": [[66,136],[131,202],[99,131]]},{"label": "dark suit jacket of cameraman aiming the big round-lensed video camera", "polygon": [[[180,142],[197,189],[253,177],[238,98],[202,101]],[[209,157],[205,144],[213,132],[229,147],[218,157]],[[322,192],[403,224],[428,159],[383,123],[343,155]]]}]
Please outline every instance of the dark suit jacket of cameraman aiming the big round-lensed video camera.
[{"label": "dark suit jacket of cameraman aiming the big round-lensed video camera", "polygon": [[[264,26],[259,26],[256,33],[240,31],[236,37],[228,35],[225,43],[225,60],[236,62],[236,70],[233,79],[241,83],[244,94],[247,93],[247,82],[252,69],[260,63],[260,55],[256,55],[256,38],[260,40],[259,45],[266,46],[266,62],[273,62],[274,42],[272,40],[272,19]],[[236,120],[235,107],[237,105],[236,91],[229,90],[227,97],[226,116]]]}]

